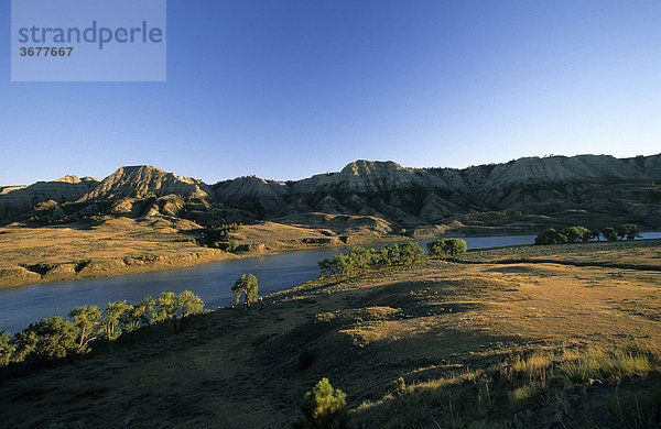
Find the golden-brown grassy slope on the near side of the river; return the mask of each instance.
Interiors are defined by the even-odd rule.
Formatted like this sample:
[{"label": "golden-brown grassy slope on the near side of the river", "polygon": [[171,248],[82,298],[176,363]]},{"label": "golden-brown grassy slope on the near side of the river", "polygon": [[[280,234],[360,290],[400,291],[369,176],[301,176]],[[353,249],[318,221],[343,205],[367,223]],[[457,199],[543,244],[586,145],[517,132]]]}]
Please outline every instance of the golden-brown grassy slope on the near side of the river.
[{"label": "golden-brown grassy slope on the near side of the river", "polygon": [[1,381],[0,426],[289,427],[322,377],[347,393],[349,428],[661,421],[659,241],[425,260],[170,331]]}]

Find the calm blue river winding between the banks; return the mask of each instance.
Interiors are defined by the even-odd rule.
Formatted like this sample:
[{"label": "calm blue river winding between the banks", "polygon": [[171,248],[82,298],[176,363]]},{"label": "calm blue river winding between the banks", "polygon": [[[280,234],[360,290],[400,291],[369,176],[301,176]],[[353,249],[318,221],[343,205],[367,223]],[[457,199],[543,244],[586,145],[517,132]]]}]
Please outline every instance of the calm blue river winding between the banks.
[{"label": "calm blue river winding between the banks", "polygon": [[[661,232],[647,232],[644,239],[659,239]],[[532,244],[535,235],[462,238],[468,249]],[[418,243],[426,249],[431,240]],[[51,316],[65,317],[83,305],[104,308],[121,299],[130,304],[162,292],[193,290],[216,308],[234,302],[230,288],[243,273],[257,276],[260,295],[282,290],[318,276],[317,262],[346,252],[346,248],[315,249],[193,266],[182,270],[132,274],[110,278],[35,284],[0,289],[0,329],[18,332],[31,322]]]}]

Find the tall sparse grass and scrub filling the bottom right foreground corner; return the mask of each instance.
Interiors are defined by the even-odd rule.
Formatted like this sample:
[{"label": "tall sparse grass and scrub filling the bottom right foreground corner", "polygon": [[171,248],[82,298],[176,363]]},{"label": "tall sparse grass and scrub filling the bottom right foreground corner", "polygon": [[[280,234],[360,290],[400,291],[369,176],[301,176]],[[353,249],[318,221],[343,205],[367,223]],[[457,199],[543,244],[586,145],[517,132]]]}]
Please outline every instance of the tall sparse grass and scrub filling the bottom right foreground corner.
[{"label": "tall sparse grass and scrub filling the bottom right foreground corner", "polygon": [[[381,426],[378,422],[393,421],[391,416],[399,416],[397,422],[403,427],[427,424],[548,427],[554,422],[570,427],[590,421],[596,425],[589,414],[576,414],[583,402],[585,407],[608,406],[609,419],[618,422],[615,427],[657,427],[661,424],[661,395],[648,397],[633,391],[631,399],[636,397],[638,407],[614,405],[620,400],[618,386],[627,377],[650,376],[653,389],[661,388],[661,378],[657,375],[661,367],[659,350],[640,343],[616,349],[534,346],[514,352],[487,369],[466,370],[411,385],[399,402],[386,396],[364,403],[350,411],[349,424],[350,427]],[[598,387],[599,395],[589,395],[587,386]],[[431,416],[442,417],[436,420]],[[545,417],[535,420],[535,416]]]}]

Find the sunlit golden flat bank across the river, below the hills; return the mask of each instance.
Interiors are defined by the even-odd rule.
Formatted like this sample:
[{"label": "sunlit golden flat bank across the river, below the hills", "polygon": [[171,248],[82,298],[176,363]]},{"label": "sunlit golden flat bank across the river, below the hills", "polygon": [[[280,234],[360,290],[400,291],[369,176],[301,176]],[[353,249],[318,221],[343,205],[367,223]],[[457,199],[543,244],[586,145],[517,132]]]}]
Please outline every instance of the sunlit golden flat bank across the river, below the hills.
[{"label": "sunlit golden flat bank across the river, below the hills", "polygon": [[199,246],[186,229],[196,224],[129,218],[99,226],[0,228],[0,287],[177,270],[227,260],[311,249],[409,240],[368,228],[334,232],[262,222],[232,235],[239,251]]}]

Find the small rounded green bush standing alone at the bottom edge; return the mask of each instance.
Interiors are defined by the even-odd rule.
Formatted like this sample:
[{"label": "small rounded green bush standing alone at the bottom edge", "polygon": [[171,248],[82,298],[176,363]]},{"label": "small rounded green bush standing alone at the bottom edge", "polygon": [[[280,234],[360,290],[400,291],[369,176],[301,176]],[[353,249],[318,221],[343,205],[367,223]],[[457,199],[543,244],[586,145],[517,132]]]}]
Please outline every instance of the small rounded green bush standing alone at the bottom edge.
[{"label": "small rounded green bush standing alone at the bottom edge", "polygon": [[301,410],[314,428],[330,428],[346,408],[346,394],[334,389],[328,378],[322,378],[305,394]]}]

